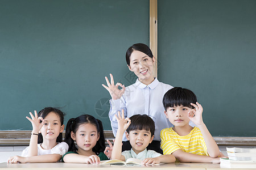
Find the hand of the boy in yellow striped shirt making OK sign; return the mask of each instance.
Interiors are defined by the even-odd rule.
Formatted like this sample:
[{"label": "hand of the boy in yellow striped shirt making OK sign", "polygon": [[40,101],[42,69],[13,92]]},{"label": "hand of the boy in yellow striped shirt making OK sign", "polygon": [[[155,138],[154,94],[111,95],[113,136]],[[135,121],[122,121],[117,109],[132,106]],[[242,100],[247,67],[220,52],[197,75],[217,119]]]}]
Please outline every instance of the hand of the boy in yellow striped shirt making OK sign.
[{"label": "hand of the boy in yellow striped shirt making OK sign", "polygon": [[195,107],[195,109],[191,109],[191,111],[188,112],[188,118],[197,126],[204,124],[202,116],[203,107],[201,106],[201,104],[196,102],[196,104],[191,103],[191,105]]}]

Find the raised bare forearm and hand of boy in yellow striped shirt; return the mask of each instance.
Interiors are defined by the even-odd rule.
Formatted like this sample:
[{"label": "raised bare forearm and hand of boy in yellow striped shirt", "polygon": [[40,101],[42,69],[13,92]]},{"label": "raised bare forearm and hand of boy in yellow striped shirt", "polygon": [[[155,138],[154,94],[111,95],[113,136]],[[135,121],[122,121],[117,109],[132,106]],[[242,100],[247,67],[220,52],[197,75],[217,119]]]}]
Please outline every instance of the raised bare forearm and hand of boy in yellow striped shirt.
[{"label": "raised bare forearm and hand of boy in yellow striped shirt", "polygon": [[196,124],[197,128],[200,129],[204,137],[205,145],[207,146],[207,152],[209,156],[212,158],[217,158],[218,156],[220,156],[220,150],[218,149],[217,143],[214,141],[212,135],[207,129],[207,126],[203,122],[203,107],[198,102],[196,104],[191,103],[191,105],[195,107],[195,109],[192,109],[188,112],[188,117],[192,122]]}]

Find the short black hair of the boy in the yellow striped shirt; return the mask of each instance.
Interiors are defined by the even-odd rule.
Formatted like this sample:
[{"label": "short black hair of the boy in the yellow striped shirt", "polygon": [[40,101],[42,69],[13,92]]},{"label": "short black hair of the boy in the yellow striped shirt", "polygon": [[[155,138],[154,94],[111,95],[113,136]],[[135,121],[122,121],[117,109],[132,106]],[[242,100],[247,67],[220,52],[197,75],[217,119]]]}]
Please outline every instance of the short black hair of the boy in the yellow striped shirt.
[{"label": "short black hair of the boy in the yellow striped shirt", "polygon": [[196,104],[196,95],[187,88],[174,87],[166,92],[163,97],[164,109],[183,105],[184,107],[194,108],[191,103]]}]

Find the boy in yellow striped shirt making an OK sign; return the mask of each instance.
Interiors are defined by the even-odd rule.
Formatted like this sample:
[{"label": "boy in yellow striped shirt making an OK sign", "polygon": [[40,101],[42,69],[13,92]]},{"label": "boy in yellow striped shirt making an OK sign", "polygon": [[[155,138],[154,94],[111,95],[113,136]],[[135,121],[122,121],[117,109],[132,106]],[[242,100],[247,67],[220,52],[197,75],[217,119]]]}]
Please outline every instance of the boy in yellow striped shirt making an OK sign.
[{"label": "boy in yellow striped shirt making an OK sign", "polygon": [[[203,122],[203,107],[196,95],[175,87],[166,92],[163,105],[166,117],[174,125],[160,133],[163,154],[172,154],[180,162],[220,163],[220,150]],[[189,121],[196,126],[189,126]]]}]

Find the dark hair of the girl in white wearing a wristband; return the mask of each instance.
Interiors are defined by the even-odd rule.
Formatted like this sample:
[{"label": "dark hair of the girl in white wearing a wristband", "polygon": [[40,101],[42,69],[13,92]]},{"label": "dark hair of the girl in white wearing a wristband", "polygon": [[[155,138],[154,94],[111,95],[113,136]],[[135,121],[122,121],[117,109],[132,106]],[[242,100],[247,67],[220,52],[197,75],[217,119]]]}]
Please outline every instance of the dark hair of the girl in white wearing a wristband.
[{"label": "dark hair of the girl in white wearing a wristband", "polygon": [[[52,107],[47,107],[42,109],[40,112],[38,112],[38,117],[43,117],[46,118],[46,116],[50,113],[50,112],[54,112],[57,114],[57,116],[59,116],[60,118],[60,124],[61,126],[64,123],[64,116],[65,113],[61,112],[60,109],[58,108],[52,108]],[[40,121],[42,122],[42,121]],[[38,134],[38,143],[42,143],[43,142],[43,136],[41,133]],[[62,133],[59,134],[59,136],[56,139],[56,142],[63,142],[63,137],[62,137]]]}]

